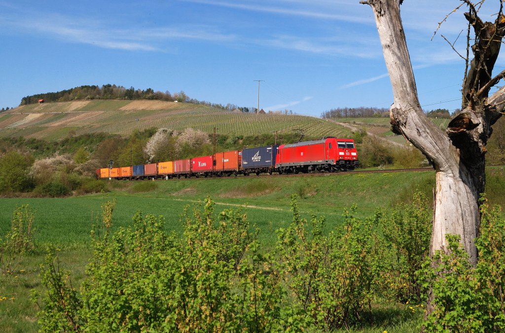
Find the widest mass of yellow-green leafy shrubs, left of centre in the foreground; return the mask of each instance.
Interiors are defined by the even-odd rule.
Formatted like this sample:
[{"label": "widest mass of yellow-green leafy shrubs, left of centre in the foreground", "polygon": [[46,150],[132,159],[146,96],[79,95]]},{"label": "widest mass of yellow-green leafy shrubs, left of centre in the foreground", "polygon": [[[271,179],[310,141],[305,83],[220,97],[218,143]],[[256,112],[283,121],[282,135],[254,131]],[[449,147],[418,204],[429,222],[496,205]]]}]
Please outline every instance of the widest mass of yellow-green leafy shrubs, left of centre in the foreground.
[{"label": "widest mass of yellow-green leafy shrubs, left of centre in the foreground", "polygon": [[[93,228],[93,257],[80,293],[49,257],[42,282],[41,331],[280,331],[308,324],[285,306],[280,273],[258,252],[240,211],[219,221],[213,203],[186,209],[182,240],[164,220],[140,213],[133,228],[111,234],[114,205]],[[244,253],[249,255],[244,258]],[[53,259],[53,260],[52,260]]]}]

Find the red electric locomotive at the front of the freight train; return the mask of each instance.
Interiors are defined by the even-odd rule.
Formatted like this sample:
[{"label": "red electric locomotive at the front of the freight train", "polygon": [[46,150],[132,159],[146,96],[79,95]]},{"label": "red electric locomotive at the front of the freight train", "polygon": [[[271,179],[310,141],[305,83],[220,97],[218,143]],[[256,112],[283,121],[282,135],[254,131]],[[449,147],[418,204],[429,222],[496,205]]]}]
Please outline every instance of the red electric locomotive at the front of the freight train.
[{"label": "red electric locomotive at the front of the freight train", "polygon": [[354,140],[326,138],[280,145],[275,167],[279,173],[335,172],[354,170],[358,154]]}]

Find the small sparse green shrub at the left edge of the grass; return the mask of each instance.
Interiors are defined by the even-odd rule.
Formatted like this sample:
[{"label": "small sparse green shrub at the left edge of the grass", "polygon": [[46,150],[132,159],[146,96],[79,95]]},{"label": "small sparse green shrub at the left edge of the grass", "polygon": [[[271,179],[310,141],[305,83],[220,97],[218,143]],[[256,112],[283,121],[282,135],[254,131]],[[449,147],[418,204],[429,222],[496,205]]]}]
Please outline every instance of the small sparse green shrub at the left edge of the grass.
[{"label": "small sparse green shrub at the left edge of the grass", "polygon": [[35,248],[33,243],[33,214],[28,205],[16,207],[11,220],[11,230],[0,238],[0,269],[2,274],[12,274],[22,257]]}]

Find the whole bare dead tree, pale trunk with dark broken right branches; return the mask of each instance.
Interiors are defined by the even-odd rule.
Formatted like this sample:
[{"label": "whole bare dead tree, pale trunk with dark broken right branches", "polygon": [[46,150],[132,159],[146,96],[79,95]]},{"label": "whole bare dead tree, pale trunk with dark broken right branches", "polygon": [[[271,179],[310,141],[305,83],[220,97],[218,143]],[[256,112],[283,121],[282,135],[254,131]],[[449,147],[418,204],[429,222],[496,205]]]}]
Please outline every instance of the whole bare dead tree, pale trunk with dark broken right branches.
[{"label": "whole bare dead tree, pale trunk with dark broken right branches", "polygon": [[[460,1],[463,4],[453,12],[461,5],[468,8],[464,14],[468,21],[468,33],[462,111],[453,117],[445,132],[426,117],[419,104],[400,18],[402,0],[368,0],[361,3],[370,5],[375,14],[393,89],[394,101],[390,108],[392,129],[420,149],[436,170],[430,254],[446,249],[446,234],[457,234],[461,236],[469,260],[475,266],[477,250],[474,240],[480,225],[479,197],[484,192],[486,181],[486,143],[492,132],[491,126],[505,108],[505,87],[489,96],[490,89],[505,76],[505,71],[491,75],[505,34],[505,19],[503,0],[500,0],[494,22],[484,22],[478,16],[483,1],[475,4],[470,0]],[[470,62],[469,50],[474,55]]]}]

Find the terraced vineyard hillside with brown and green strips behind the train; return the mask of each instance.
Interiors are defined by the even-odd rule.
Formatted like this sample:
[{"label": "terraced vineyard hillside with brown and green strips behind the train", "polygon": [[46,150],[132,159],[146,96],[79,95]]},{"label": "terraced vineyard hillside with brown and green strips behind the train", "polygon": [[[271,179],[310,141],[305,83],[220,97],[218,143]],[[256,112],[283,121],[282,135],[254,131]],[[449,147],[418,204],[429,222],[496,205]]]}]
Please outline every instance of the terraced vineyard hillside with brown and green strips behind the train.
[{"label": "terraced vineyard hillside with brown and green strips behind the train", "polygon": [[69,133],[128,135],[150,127],[257,135],[302,130],[308,136],[347,137],[351,130],[320,118],[230,112],[207,106],[162,101],[75,101],[24,105],[0,114],[0,136],[58,140]]}]

